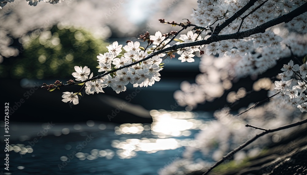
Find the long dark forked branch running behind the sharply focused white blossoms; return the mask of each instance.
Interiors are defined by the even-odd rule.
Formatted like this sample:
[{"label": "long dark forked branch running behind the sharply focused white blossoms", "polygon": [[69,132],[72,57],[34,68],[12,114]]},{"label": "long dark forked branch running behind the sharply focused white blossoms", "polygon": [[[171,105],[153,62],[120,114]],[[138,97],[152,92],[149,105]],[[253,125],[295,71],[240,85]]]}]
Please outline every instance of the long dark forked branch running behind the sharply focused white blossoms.
[{"label": "long dark forked branch running behind the sharply focused white blossoms", "polygon": [[[255,0],[251,0],[247,4],[249,4],[248,6],[252,6],[254,3],[255,3]],[[240,9],[237,13],[232,15],[230,18],[228,18],[222,25],[219,25],[218,28],[219,29],[223,29],[224,27],[226,27],[231,21],[235,20],[235,18],[238,17],[237,15],[243,13],[243,11],[242,11],[243,9],[247,10],[246,8],[247,8],[247,5],[244,6],[242,9]],[[212,35],[207,40],[200,40],[200,41],[194,41],[194,42],[182,43],[182,44],[174,44],[171,47],[168,47],[168,48],[165,48],[165,49],[161,49],[161,50],[152,52],[152,54],[148,55],[146,58],[141,59],[141,60],[139,60],[137,62],[131,63],[131,64],[123,66],[123,67],[119,67],[119,68],[117,68],[115,70],[111,70],[111,71],[106,72],[106,73],[104,73],[102,75],[98,75],[96,77],[87,79],[87,80],[85,80],[83,82],[88,82],[88,81],[91,81],[91,80],[99,79],[99,78],[101,78],[101,77],[103,77],[103,76],[105,76],[107,74],[111,74],[111,73],[114,73],[114,72],[116,72],[118,70],[121,70],[123,68],[133,66],[135,64],[141,63],[142,61],[150,59],[150,58],[152,58],[155,55],[158,55],[158,54],[161,54],[161,53],[165,53],[165,52],[168,52],[168,51],[171,51],[171,50],[178,50],[178,49],[186,48],[186,47],[210,44],[212,42],[217,42],[217,41],[222,41],[222,40],[242,39],[244,37],[248,37],[248,36],[251,36],[251,35],[259,33],[259,32],[264,33],[266,29],[268,29],[268,28],[270,28],[270,27],[272,27],[274,25],[278,25],[278,24],[280,24],[282,22],[286,22],[287,23],[287,22],[291,21],[294,17],[297,17],[297,16],[305,13],[306,11],[307,11],[307,2],[305,2],[303,5],[299,6],[298,8],[293,10],[292,12],[287,13],[285,15],[282,15],[280,17],[277,17],[275,19],[272,19],[272,20],[270,20],[270,21],[268,21],[268,22],[266,22],[266,23],[264,23],[262,25],[259,25],[259,26],[255,27],[253,29],[249,29],[249,30],[244,31],[244,32],[236,32],[236,33],[226,34],[226,35],[217,35],[219,32],[216,32],[215,36],[213,36],[213,33],[212,33]],[[69,85],[74,85],[74,84],[80,84],[80,83],[83,83],[83,82],[74,82],[74,83],[71,83],[71,84],[65,84],[65,85],[61,85],[61,86],[57,86],[57,87],[69,86]],[[57,87],[53,87],[51,89],[54,89],[54,88],[57,88]]]}]

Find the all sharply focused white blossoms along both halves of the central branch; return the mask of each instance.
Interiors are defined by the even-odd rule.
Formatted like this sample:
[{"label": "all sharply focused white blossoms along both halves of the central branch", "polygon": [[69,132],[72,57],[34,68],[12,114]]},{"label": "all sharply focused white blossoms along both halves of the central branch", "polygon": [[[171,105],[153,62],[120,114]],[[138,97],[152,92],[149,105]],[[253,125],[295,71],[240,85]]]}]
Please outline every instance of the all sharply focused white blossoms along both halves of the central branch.
[{"label": "all sharply focused white blossoms along both halves of the central branch", "polygon": [[[86,81],[93,77],[91,70],[85,67],[75,66],[75,71],[72,76],[75,77],[76,81],[85,82],[85,92],[87,94],[104,93],[103,88],[111,87],[116,93],[120,93],[126,90],[126,85],[129,83],[133,84],[133,87],[147,87],[152,86],[156,81],[160,81],[160,73],[163,66],[161,66],[162,57],[169,56],[165,53],[161,53],[153,56],[152,58],[146,59],[154,51],[161,50],[163,48],[170,47],[168,44],[171,39],[166,38],[162,35],[160,31],[157,31],[155,35],[150,35],[149,33],[144,36],[144,41],[149,40],[153,46],[145,50],[145,48],[140,47],[138,41],[127,41],[127,45],[124,47],[122,44],[118,44],[117,41],[113,42],[107,46],[108,52],[104,54],[99,54],[97,56],[98,72],[106,74],[101,78]],[[177,44],[189,43],[196,40],[202,40],[202,37],[192,31],[188,31],[187,34],[181,34],[179,39],[177,39]],[[182,48],[176,52],[180,55],[178,58],[181,62],[194,62],[193,57],[195,54],[200,52],[203,46],[193,46],[189,48]],[[135,64],[135,62],[138,62]],[[132,65],[134,64],[134,65]],[[116,71],[113,71],[116,70]],[[112,71],[112,73],[108,73]],[[79,83],[84,85],[83,83]],[[73,102],[79,93],[64,92],[62,96],[64,102]]]}]

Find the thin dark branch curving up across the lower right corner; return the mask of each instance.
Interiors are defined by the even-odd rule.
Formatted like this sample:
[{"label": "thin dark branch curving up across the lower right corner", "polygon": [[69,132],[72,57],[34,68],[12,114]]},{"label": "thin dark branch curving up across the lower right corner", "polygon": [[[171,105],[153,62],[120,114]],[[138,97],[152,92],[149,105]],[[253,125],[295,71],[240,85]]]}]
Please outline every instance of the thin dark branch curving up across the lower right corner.
[{"label": "thin dark branch curving up across the lower right corner", "polygon": [[239,150],[242,150],[244,147],[246,147],[250,143],[254,142],[259,137],[261,137],[263,135],[266,135],[268,133],[271,133],[271,132],[276,132],[276,131],[280,131],[280,130],[283,130],[283,129],[288,129],[290,127],[295,127],[295,126],[298,126],[298,125],[301,125],[301,124],[305,124],[305,123],[307,123],[307,119],[301,120],[301,121],[293,123],[293,124],[284,125],[282,127],[278,127],[278,128],[275,128],[275,129],[269,129],[267,131],[264,131],[264,132],[262,132],[260,134],[255,135],[255,137],[253,137],[252,139],[247,140],[245,143],[243,143],[242,145],[238,146],[237,148],[235,148],[234,150],[229,152],[226,156],[224,156],[222,159],[220,159],[218,162],[216,162],[211,168],[209,168],[205,173],[203,173],[203,175],[208,174],[212,169],[214,169],[215,167],[217,167],[218,165],[223,163],[225,160],[228,159],[227,157],[231,157],[232,158],[232,156],[236,152],[238,152]]}]

